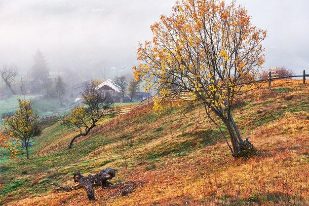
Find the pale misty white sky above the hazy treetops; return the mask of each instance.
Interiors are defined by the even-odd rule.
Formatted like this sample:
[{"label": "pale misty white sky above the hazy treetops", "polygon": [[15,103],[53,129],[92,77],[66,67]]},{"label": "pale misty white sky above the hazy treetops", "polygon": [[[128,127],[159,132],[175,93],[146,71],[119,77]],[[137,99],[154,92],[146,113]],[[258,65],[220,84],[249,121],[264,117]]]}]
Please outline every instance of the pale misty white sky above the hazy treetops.
[{"label": "pale misty white sky above the hazy treetops", "polygon": [[[129,69],[150,25],[169,15],[175,0],[0,0],[0,63],[27,71],[39,48],[53,71]],[[264,68],[309,73],[309,1],[236,0],[252,23],[268,30]],[[124,67],[123,67],[124,66]],[[105,68],[105,70],[104,70]],[[119,69],[120,70],[120,69]],[[94,74],[92,74],[94,75]],[[92,76],[94,77],[94,76]]]}]

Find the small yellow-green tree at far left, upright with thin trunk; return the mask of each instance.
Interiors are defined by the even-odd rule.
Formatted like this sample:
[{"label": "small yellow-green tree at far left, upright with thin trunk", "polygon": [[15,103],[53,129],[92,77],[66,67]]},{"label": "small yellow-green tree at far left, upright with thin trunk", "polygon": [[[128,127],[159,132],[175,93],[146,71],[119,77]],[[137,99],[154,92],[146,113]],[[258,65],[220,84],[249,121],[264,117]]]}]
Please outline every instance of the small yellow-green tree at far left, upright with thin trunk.
[{"label": "small yellow-green tree at far left, upright with thin trunk", "polygon": [[25,142],[27,159],[29,159],[29,140],[41,134],[38,113],[33,112],[32,101],[18,98],[18,108],[12,117],[5,118],[5,134]]}]

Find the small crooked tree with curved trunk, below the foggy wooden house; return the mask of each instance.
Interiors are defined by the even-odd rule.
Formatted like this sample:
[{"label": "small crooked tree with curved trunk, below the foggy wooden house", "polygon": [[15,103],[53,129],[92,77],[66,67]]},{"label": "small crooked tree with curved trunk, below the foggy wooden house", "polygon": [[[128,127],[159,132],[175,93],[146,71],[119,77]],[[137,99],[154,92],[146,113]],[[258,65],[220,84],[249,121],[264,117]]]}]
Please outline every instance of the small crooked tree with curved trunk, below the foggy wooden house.
[{"label": "small crooked tree with curved trunk, below the foggy wooden house", "polygon": [[78,135],[73,137],[68,148],[71,149],[73,142],[77,137],[86,136],[98,122],[105,116],[114,113],[110,102],[106,97],[100,94],[93,81],[87,82],[84,91],[81,93],[82,106],[76,106],[71,113],[62,118],[62,123]]}]

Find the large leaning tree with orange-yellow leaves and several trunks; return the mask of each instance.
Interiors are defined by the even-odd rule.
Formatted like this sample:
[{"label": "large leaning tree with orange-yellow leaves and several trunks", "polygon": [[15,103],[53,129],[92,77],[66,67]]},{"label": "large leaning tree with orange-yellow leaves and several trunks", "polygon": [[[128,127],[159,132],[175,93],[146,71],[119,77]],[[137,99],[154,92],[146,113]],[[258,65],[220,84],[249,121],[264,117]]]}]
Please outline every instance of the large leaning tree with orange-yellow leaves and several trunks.
[{"label": "large leaning tree with orange-yellow leaves and several trunks", "polygon": [[159,89],[161,100],[191,95],[190,105],[202,105],[221,131],[211,115],[218,116],[229,132],[232,146],[221,131],[232,156],[253,148],[242,139],[231,109],[264,63],[266,31],[251,24],[245,8],[224,0],[176,2],[171,16],[162,15],[151,29],[153,40],[138,48],[136,78]]}]

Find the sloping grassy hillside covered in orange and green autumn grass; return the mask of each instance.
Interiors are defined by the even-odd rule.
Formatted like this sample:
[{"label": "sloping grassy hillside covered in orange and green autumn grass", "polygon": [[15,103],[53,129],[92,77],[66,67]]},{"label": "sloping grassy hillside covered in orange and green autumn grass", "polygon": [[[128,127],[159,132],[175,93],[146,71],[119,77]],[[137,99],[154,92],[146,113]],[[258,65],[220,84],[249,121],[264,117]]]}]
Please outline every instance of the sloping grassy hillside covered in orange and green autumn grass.
[{"label": "sloping grassy hillside covered in orange and green autumn grass", "polygon": [[[309,205],[309,85],[274,81],[259,98],[233,110],[256,156],[232,158],[202,108],[182,114],[168,104],[107,118],[66,149],[74,134],[56,123],[45,128],[25,160],[1,164],[4,205]],[[224,129],[224,128],[223,128]],[[96,201],[74,185],[73,173],[118,170],[113,188],[95,187]],[[125,193],[123,192],[125,189]]]}]

